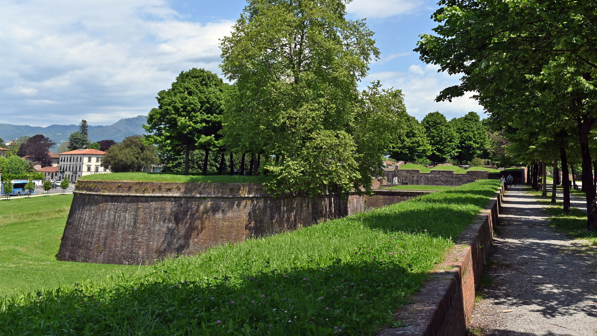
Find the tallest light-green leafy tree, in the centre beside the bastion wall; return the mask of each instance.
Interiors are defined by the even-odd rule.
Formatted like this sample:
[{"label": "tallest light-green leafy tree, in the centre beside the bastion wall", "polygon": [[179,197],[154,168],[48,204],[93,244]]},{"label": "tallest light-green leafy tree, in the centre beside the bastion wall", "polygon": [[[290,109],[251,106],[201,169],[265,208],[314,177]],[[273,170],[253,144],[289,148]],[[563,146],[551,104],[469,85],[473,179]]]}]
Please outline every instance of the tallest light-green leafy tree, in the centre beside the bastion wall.
[{"label": "tallest light-green leafy tree, in the centre beside the bastion wall", "polygon": [[252,0],[221,40],[220,68],[235,83],[224,141],[229,150],[275,155],[263,165],[275,194],[318,194],[331,186],[360,191],[370,188],[370,169],[381,165],[384,153],[375,151],[387,146],[389,130],[380,127],[373,136],[381,141],[367,146],[377,139],[357,139],[371,134],[357,120],[370,122],[363,114],[368,104],[389,102],[395,93],[359,93],[358,81],[379,51],[364,20],[345,15],[338,0]]}]

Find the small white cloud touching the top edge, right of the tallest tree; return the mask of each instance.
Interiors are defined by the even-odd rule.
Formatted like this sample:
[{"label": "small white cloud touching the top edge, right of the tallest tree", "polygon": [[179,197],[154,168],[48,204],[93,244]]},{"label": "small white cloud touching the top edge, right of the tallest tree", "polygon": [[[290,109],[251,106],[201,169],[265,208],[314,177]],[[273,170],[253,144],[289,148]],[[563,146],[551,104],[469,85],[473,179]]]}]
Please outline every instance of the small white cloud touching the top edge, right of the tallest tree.
[{"label": "small white cloud touching the top edge, right of the tallest tree", "polygon": [[346,6],[348,13],[368,19],[410,14],[424,5],[421,0],[354,0]]}]

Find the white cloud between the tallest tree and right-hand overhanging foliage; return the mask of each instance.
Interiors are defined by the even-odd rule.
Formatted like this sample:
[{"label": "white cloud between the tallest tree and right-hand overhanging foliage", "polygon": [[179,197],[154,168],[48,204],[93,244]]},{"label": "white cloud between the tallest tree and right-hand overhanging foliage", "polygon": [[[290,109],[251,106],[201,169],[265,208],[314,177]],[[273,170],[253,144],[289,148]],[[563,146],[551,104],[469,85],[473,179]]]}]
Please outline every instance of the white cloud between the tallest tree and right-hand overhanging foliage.
[{"label": "white cloud between the tallest tree and right-hand overhanging foliage", "polygon": [[452,100],[435,102],[435,97],[444,88],[460,83],[460,76],[438,73],[435,65],[411,65],[408,72],[377,72],[368,75],[362,83],[380,80],[384,87],[399,88],[404,93],[408,114],[421,120],[429,112],[442,112],[450,120],[475,111],[484,117],[483,108],[472,99],[473,93]]}]

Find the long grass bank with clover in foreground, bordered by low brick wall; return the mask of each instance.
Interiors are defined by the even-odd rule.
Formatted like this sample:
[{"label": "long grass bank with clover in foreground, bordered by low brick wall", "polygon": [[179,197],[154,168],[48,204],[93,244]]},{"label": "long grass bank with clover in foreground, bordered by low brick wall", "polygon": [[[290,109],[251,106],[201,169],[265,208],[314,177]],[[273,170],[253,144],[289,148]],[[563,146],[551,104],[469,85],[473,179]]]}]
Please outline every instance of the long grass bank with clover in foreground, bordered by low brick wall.
[{"label": "long grass bank with clover in foreground, bordered by low brick wall", "polygon": [[[483,180],[5,302],[10,335],[371,335],[494,196]],[[338,329],[334,329],[338,327]]]}]

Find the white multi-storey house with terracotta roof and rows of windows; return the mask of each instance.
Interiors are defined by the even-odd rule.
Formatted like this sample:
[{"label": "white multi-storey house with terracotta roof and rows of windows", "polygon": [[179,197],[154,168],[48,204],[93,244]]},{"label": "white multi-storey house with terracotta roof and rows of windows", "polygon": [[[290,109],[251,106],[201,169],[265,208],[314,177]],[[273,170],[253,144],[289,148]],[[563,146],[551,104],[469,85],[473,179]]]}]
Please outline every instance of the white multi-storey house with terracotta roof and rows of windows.
[{"label": "white multi-storey house with terracotta roof and rows of windows", "polygon": [[58,178],[68,179],[70,183],[75,183],[81,176],[110,173],[109,169],[100,166],[106,152],[97,149],[75,149],[59,155]]}]

